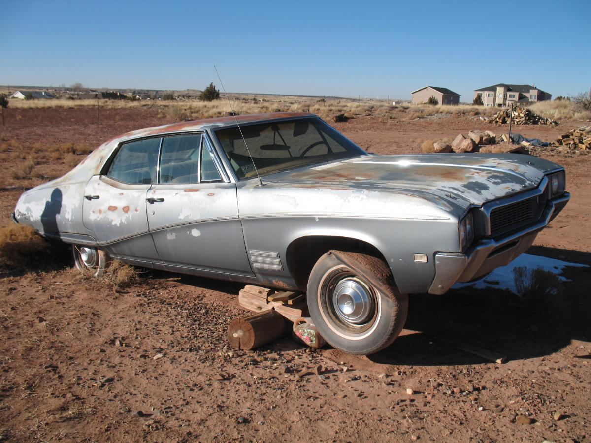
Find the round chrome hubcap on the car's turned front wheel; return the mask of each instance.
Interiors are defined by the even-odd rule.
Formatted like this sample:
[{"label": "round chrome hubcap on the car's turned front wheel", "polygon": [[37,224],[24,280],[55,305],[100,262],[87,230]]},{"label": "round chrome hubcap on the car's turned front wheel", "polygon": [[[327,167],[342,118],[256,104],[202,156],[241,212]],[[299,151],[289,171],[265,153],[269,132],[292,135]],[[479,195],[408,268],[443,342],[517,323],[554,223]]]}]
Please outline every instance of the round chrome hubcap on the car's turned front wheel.
[{"label": "round chrome hubcap on the car's turned front wheel", "polygon": [[359,326],[374,316],[374,298],[369,288],[356,278],[342,279],[332,295],[333,307],[344,323]]}]

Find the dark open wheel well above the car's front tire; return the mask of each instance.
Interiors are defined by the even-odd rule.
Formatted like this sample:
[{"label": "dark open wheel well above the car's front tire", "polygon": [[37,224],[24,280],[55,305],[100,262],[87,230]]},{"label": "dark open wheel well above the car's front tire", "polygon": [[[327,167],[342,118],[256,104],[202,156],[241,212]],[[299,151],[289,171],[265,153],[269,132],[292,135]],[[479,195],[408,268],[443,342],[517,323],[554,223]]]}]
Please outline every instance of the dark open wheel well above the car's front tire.
[{"label": "dark open wheel well above the car's front tire", "polygon": [[285,259],[287,268],[296,281],[298,289],[306,292],[310,271],[318,259],[329,250],[361,252],[388,263],[378,248],[363,240],[336,236],[307,236],[294,240],[287,247]]}]

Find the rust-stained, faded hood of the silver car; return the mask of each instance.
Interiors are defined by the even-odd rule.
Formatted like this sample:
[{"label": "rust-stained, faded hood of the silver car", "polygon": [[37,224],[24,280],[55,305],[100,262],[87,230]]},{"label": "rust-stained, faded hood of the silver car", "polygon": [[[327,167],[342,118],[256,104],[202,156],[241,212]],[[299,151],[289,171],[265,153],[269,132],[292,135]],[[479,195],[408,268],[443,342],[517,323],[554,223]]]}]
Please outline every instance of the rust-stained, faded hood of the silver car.
[{"label": "rust-stained, faded hood of the silver car", "polygon": [[460,206],[483,204],[537,187],[558,165],[532,155],[363,155],[265,177],[313,187],[346,185],[434,194]]}]

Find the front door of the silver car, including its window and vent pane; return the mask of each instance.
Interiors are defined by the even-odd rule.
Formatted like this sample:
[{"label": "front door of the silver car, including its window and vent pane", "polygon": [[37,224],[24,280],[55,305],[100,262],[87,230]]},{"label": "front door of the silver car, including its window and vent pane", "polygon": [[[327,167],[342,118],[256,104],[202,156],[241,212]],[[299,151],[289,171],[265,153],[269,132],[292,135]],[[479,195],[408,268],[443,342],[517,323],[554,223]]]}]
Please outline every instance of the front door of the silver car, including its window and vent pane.
[{"label": "front door of the silver car, including its window and vent pane", "polygon": [[203,133],[164,137],[160,180],[147,198],[152,239],[172,271],[253,275],[236,185],[224,177],[215,155]]}]

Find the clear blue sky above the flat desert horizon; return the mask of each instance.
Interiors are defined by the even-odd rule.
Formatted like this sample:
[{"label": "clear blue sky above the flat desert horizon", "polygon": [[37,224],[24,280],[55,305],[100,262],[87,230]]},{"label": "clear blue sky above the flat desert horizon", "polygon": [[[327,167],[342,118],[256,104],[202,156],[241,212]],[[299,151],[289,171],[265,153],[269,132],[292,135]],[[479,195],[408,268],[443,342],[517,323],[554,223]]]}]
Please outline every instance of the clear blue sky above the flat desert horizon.
[{"label": "clear blue sky above the flat desert horizon", "polygon": [[[472,101],[591,86],[591,1],[0,0],[0,84]],[[218,85],[219,86],[219,85]]]}]

